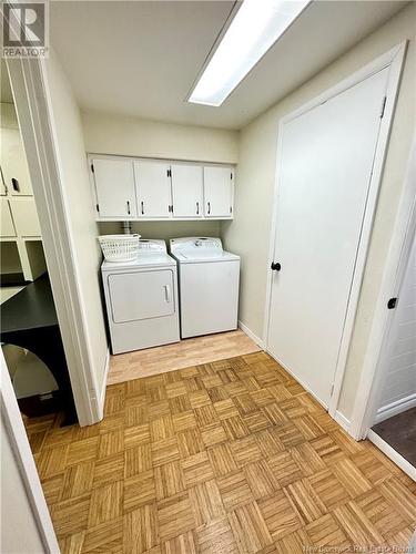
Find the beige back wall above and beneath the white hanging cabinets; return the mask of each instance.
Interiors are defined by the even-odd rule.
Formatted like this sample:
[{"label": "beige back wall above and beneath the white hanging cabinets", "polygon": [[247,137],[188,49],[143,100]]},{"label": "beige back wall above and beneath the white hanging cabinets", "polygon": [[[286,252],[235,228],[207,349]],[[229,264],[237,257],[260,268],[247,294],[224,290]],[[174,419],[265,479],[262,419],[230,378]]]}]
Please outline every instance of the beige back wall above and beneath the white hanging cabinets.
[{"label": "beige back wall above and beneath the white hanging cabinets", "polygon": [[[176,125],[101,112],[82,113],[87,152],[126,156],[236,163],[239,132]],[[134,223],[144,238],[219,236],[219,222]],[[100,232],[119,233],[120,225],[100,224]]]}]

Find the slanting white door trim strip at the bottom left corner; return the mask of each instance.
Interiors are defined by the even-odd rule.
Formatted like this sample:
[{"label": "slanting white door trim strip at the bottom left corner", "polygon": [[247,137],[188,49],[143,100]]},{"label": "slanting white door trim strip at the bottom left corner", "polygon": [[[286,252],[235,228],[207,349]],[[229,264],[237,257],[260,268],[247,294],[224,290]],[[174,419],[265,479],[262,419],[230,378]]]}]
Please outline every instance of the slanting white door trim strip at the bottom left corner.
[{"label": "slanting white door trim strip at the bottom left corner", "polygon": [[58,554],[60,548],[57,535],[1,348],[0,366],[1,418],[13,451],[14,462],[26,489],[28,502],[43,543],[44,552]]}]

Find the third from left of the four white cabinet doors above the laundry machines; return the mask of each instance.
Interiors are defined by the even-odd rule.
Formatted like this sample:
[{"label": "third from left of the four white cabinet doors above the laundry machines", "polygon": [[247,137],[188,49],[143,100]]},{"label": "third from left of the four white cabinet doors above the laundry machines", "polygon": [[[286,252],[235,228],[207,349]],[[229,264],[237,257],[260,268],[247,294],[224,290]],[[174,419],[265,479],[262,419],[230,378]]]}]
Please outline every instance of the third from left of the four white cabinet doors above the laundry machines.
[{"label": "third from left of the four white cabinet doors above the laundry machines", "polygon": [[203,178],[200,165],[172,165],[173,217],[202,217]]}]

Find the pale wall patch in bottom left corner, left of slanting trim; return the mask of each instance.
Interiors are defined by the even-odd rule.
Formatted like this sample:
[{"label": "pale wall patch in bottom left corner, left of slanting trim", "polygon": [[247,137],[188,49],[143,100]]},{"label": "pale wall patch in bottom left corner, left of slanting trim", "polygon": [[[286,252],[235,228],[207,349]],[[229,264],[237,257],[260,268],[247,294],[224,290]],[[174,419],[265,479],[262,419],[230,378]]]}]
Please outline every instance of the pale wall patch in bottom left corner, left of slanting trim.
[{"label": "pale wall patch in bottom left corner, left of slanting trim", "polygon": [[9,434],[0,422],[1,442],[1,543],[4,554],[42,554],[38,524],[20,475]]}]

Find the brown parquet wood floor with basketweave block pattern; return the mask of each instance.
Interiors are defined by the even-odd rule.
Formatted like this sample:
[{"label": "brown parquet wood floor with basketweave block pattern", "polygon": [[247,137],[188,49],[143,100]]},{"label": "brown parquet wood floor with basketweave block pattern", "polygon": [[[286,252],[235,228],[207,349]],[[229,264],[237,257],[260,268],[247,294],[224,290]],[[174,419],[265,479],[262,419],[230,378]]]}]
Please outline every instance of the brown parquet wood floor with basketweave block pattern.
[{"label": "brown parquet wood floor with basketweave block pattern", "polygon": [[113,384],[101,423],[28,434],[63,553],[387,552],[416,523],[416,483],[264,352]]}]

